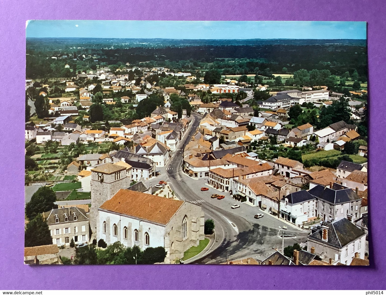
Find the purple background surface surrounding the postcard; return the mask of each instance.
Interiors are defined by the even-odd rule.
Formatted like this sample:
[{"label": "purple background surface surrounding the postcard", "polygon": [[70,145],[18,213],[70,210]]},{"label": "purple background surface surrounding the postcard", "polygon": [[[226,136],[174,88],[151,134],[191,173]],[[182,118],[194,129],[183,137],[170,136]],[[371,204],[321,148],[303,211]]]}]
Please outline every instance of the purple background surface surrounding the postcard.
[{"label": "purple background surface surrounding the postcard", "polygon": [[[184,4],[183,4],[184,3]],[[0,288],[2,289],[385,289],[384,0],[0,1]],[[285,266],[41,266],[23,264],[25,21],[357,20],[368,22],[370,268]],[[376,222],[377,221],[377,222]]]}]

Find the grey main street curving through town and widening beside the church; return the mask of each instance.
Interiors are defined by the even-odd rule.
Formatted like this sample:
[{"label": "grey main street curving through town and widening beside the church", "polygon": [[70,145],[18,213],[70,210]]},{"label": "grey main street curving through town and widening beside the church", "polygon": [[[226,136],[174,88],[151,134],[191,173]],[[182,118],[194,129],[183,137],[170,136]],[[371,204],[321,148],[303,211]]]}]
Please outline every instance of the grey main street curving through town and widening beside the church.
[{"label": "grey main street curving through town and widening beside the church", "polygon": [[[209,249],[199,254],[198,259],[195,259],[193,263],[223,263],[227,258],[231,260],[246,257],[265,259],[275,251],[274,249],[281,249],[283,239],[279,237],[279,231],[281,234],[283,226],[288,227],[285,230],[286,234],[295,236],[285,238],[284,247],[295,242],[305,242],[308,232],[281,222],[267,212],[261,211],[259,207],[239,203],[233,200],[227,192],[221,193],[225,195],[223,200],[211,199],[210,195],[219,193],[219,191],[207,185],[207,177],[192,179],[183,173],[183,145],[190,141],[201,119],[201,116],[195,113],[192,113],[192,117],[190,130],[181,140],[178,150],[174,152],[168,165],[163,169],[166,174],[161,173],[157,180],[168,181],[176,196],[200,205],[205,219],[214,220],[215,241]],[[209,190],[201,192],[200,188],[203,186],[207,186]],[[240,208],[232,210],[230,206],[236,203],[240,205]],[[257,213],[263,213],[264,217],[254,219]]]}]

